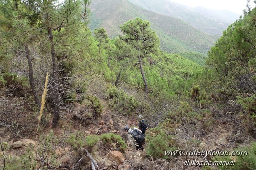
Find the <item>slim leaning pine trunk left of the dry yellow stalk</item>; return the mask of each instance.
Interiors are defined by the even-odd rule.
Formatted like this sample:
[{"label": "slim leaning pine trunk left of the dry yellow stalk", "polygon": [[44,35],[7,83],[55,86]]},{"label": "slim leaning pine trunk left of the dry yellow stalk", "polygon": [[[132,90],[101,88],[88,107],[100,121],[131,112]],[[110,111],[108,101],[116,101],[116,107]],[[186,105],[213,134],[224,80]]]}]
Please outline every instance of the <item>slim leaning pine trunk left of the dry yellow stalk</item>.
[{"label": "slim leaning pine trunk left of the dry yellow stalk", "polygon": [[31,86],[31,90],[32,90],[32,93],[33,93],[33,96],[35,98],[35,101],[39,107],[39,110],[41,108],[41,102],[38,98],[38,94],[37,94],[37,90],[35,89],[35,81],[34,81],[34,71],[33,71],[33,66],[32,66],[32,61],[31,61],[31,57],[30,57],[30,53],[29,53],[29,47],[28,47],[28,44],[25,43],[25,50],[26,50],[26,55],[27,55],[27,59],[28,59],[28,64],[29,64],[29,83],[30,83],[30,86]]}]

